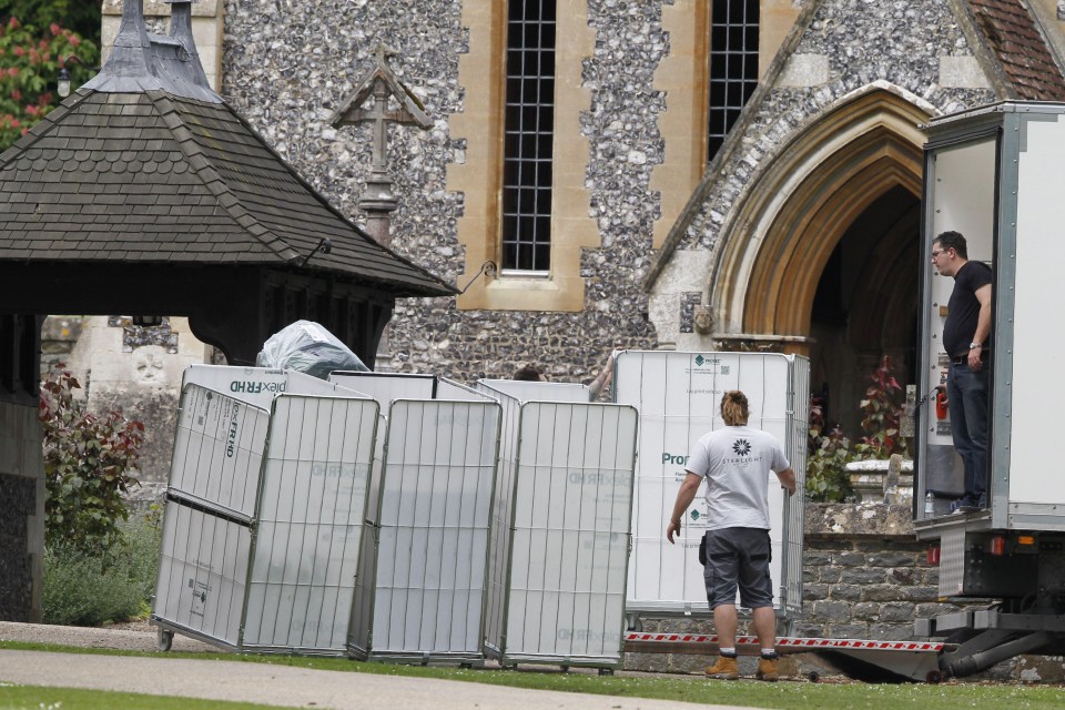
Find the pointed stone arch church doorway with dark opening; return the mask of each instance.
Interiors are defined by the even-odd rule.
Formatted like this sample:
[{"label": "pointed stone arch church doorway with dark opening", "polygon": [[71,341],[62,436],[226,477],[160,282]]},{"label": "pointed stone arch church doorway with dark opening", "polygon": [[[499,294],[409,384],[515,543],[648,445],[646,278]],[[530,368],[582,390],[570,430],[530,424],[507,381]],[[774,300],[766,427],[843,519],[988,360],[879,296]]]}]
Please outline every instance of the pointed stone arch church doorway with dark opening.
[{"label": "pointed stone arch church doorway with dark opening", "polygon": [[809,355],[852,437],[881,356],[903,385],[915,363],[922,103],[873,87],[800,132],[724,225],[710,281],[713,339]]}]

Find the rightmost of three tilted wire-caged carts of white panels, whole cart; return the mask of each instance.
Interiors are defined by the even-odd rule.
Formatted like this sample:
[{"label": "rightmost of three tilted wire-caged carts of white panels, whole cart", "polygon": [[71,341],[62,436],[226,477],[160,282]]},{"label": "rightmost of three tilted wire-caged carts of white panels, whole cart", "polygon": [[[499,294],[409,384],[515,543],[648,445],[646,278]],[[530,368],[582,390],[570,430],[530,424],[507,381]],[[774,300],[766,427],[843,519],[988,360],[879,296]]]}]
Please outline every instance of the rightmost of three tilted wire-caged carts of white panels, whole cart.
[{"label": "rightmost of three tilted wire-caged carts of white panels, whole cart", "polygon": [[638,414],[588,388],[483,379],[503,406],[486,651],[518,662],[621,663]]}]

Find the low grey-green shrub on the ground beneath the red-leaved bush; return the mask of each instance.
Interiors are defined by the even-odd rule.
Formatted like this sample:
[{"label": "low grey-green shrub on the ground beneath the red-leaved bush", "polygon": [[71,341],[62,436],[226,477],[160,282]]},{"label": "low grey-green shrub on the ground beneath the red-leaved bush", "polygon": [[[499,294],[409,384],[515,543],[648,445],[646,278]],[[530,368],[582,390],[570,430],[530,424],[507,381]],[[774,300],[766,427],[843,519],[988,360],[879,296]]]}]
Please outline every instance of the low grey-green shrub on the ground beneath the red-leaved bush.
[{"label": "low grey-green shrub on the ground beneath the red-leaved bush", "polygon": [[44,623],[100,626],[148,612],[159,560],[158,516],[135,517],[120,531],[114,547],[100,556],[71,545],[45,548]]}]

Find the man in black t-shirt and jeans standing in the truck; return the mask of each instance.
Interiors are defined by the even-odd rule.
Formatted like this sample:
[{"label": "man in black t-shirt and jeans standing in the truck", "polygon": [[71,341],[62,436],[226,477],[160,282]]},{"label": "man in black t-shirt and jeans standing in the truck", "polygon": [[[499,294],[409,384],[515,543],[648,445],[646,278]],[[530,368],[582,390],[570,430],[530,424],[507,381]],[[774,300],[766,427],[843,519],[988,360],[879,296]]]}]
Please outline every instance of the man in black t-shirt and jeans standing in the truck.
[{"label": "man in black t-shirt and jeans standing in the truck", "polygon": [[951,358],[946,396],[954,449],[965,466],[965,495],[952,510],[987,507],[987,349],[991,337],[991,267],[968,261],[965,237],[943,232],[932,242],[932,264],[954,277],[943,325],[943,347]]}]

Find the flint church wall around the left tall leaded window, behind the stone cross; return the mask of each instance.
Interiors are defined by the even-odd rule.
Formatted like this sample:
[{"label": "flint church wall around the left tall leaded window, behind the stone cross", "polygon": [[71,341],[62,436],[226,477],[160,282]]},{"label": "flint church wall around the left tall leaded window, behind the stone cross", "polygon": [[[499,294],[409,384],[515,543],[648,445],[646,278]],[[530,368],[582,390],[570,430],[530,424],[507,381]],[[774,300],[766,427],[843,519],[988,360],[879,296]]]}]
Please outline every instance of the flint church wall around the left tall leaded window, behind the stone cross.
[{"label": "flint church wall around the left tall leaded window, behind the stone cross", "polygon": [[[591,154],[575,160],[588,162],[590,216],[602,245],[584,251],[585,311],[459,312],[452,298],[402,301],[385,366],[473,382],[506,377],[534,362],[552,379],[587,382],[611,349],[657,345],[642,278],[659,216],[658,194],[648,185],[663,152],[657,116],[665,95],[653,87],[669,47],[662,4],[591,0],[588,6],[597,41],[584,64],[591,104],[579,121]],[[458,60],[469,39],[462,10],[457,0],[231,1],[222,84],[226,100],[285,160],[342,212],[362,221],[356,203],[369,171],[369,129],[333,129],[329,118],[369,71],[378,42],[396,50],[390,65],[435,124],[425,132],[389,129],[388,169],[399,202],[392,244],[453,284],[465,266],[456,226],[463,195],[445,187],[449,163],[463,163],[466,150],[466,139],[453,136],[448,125],[464,110]]]}]

